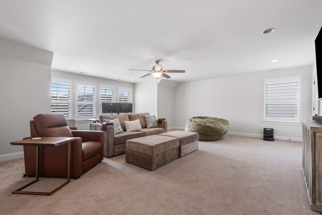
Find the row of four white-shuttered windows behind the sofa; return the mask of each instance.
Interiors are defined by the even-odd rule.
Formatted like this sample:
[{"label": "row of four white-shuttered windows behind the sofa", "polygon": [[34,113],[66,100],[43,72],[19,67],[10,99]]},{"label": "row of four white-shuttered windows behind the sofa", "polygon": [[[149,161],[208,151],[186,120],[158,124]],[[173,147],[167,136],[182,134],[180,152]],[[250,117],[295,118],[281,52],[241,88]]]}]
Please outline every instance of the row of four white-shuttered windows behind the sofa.
[{"label": "row of four white-shuttered windows behind the sofa", "polygon": [[132,102],[132,88],[52,77],[51,112],[68,119],[85,120],[102,114],[103,102]]}]

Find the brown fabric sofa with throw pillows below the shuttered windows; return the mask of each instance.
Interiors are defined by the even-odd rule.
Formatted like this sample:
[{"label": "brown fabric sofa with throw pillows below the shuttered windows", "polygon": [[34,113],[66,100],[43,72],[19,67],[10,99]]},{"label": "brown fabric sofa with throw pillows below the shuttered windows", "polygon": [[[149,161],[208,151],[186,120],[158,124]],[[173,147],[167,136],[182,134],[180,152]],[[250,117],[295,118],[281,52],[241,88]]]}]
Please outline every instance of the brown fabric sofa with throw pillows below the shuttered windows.
[{"label": "brown fabric sofa with throw pillows below the shuttered windows", "polygon": [[[156,135],[168,131],[168,122],[164,119],[159,120],[158,127],[146,128],[146,121],[144,115],[149,113],[131,113],[119,115],[100,115],[100,123],[90,124],[90,130],[104,131],[104,156],[112,157],[125,153],[126,140],[142,136]],[[106,123],[104,119],[118,118],[123,129],[123,133],[114,135],[113,123]],[[141,130],[127,132],[124,121],[140,120]]]}]

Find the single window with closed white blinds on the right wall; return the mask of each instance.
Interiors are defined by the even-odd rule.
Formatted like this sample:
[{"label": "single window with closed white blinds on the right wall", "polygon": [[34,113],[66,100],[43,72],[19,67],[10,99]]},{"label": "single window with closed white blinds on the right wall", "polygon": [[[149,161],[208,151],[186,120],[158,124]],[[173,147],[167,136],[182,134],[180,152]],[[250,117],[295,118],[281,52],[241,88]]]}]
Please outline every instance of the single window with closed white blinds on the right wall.
[{"label": "single window with closed white blinds on the right wall", "polygon": [[264,120],[299,122],[300,76],[265,79]]}]

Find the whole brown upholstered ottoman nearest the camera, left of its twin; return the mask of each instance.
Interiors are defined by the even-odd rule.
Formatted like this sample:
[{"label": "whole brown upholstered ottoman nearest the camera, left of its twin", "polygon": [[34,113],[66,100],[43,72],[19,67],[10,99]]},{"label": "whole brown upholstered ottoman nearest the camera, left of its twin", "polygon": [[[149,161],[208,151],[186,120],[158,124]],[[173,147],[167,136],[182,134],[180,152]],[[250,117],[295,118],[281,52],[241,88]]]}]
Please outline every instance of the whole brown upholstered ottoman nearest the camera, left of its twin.
[{"label": "whole brown upholstered ottoman nearest the camera, left of its twin", "polygon": [[125,161],[154,170],[179,157],[179,139],[150,135],[126,140]]}]

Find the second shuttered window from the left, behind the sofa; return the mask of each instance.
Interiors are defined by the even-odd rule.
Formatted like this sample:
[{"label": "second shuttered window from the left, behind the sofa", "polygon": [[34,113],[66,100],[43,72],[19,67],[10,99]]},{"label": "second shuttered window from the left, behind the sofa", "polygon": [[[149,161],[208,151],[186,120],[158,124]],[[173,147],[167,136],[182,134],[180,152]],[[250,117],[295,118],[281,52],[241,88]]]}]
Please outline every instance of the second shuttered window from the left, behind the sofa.
[{"label": "second shuttered window from the left, behind the sofa", "polygon": [[77,85],[77,116],[95,115],[95,87]]}]

